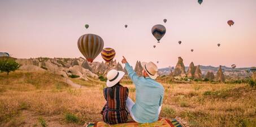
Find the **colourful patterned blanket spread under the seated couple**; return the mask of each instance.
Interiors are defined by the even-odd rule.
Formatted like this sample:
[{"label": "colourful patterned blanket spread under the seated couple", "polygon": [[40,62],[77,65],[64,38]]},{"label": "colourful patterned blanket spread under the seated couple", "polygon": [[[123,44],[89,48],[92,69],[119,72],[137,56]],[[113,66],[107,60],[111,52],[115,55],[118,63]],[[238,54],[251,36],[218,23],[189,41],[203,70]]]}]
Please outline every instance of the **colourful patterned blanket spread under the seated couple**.
[{"label": "colourful patterned blanket spread under the seated couple", "polygon": [[86,125],[86,127],[107,127],[107,126],[122,126],[122,127],[136,127],[136,126],[152,126],[152,127],[158,127],[158,126],[171,126],[171,127],[189,127],[189,125],[182,120],[180,117],[176,117],[175,119],[167,119],[167,118],[162,118],[159,117],[158,121],[154,122],[154,123],[144,123],[144,124],[140,124],[140,123],[136,123],[135,121],[128,121],[127,123],[123,123],[123,124],[115,124],[115,125],[109,125],[106,124],[103,121],[100,122],[96,122],[96,123],[90,123],[88,125]]}]

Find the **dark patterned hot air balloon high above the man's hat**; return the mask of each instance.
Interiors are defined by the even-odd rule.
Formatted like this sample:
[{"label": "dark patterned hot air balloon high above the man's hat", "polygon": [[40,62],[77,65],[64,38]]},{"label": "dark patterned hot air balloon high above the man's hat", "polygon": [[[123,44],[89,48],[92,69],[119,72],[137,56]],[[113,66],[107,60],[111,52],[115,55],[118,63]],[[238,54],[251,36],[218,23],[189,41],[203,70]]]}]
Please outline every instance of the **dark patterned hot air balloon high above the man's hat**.
[{"label": "dark patterned hot air balloon high above the man's hat", "polygon": [[151,32],[154,35],[155,39],[158,40],[158,43],[160,43],[159,40],[163,38],[164,34],[166,34],[166,28],[160,24],[154,25],[151,29]]}]

